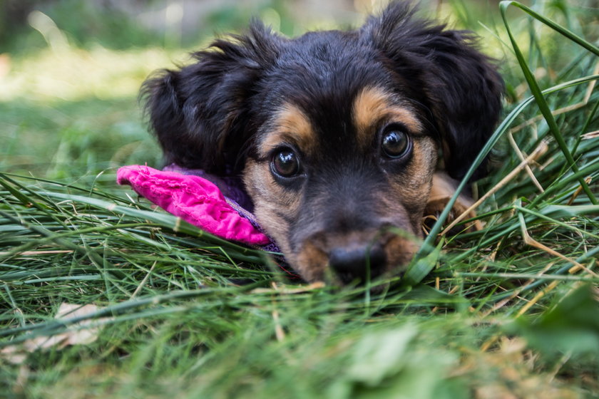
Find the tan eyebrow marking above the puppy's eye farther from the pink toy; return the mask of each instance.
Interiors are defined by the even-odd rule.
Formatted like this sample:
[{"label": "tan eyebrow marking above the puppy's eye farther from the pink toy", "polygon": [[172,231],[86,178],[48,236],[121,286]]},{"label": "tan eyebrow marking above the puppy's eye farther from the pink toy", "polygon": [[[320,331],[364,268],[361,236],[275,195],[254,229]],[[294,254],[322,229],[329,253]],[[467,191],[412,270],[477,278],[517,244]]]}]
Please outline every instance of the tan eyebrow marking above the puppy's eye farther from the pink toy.
[{"label": "tan eyebrow marking above the puppy's eye farther from the pink toy", "polygon": [[409,108],[395,105],[392,95],[382,88],[364,88],[354,100],[353,116],[357,139],[362,148],[372,145],[375,129],[384,119],[403,123],[413,133],[422,130],[415,113]]}]

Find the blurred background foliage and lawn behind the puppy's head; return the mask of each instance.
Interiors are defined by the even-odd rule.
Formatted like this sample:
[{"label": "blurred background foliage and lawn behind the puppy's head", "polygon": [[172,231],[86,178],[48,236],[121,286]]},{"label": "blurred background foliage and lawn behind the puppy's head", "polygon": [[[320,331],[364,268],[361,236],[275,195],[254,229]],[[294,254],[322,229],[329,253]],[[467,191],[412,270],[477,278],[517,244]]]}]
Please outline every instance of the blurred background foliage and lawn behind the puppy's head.
[{"label": "blurred background foliage and lawn behind the puppy's head", "polygon": [[[95,175],[132,163],[158,165],[137,95],[155,69],[188,61],[215,35],[255,16],[286,36],[358,26],[377,0],[0,0],[0,168],[52,179]],[[536,1],[542,14],[596,40],[598,1]],[[539,9],[542,8],[542,9]],[[424,0],[422,13],[481,35],[508,82],[508,102],[528,95],[498,14],[498,1]],[[526,24],[511,10],[514,24]],[[536,24],[531,65],[551,84],[571,62],[556,33]],[[531,32],[521,31],[526,44]],[[540,44],[539,44],[540,43]],[[541,49],[538,48],[538,54]],[[551,68],[546,63],[551,58]]]}]

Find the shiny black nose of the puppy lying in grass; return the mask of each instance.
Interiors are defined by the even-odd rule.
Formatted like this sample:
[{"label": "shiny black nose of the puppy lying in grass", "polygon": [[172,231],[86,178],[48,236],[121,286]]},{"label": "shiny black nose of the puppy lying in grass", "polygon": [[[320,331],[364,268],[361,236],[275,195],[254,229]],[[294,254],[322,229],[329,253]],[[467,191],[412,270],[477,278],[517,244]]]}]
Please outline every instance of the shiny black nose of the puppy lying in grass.
[{"label": "shiny black nose of the puppy lying in grass", "polygon": [[384,270],[385,262],[385,252],[379,245],[334,248],[329,254],[329,266],[344,284],[355,279],[364,282],[368,276],[374,279]]}]

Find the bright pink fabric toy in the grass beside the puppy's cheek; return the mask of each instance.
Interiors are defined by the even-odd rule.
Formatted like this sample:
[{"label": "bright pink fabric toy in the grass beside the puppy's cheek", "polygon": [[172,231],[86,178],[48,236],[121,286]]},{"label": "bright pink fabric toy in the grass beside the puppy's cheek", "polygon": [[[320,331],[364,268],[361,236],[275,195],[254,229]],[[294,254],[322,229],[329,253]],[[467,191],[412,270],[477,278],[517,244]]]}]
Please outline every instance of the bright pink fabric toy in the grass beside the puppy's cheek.
[{"label": "bright pink fabric toy in the grass beside the puppy's cheek", "polygon": [[180,171],[183,173],[132,165],[121,167],[116,177],[119,185],[130,185],[138,195],[215,236],[276,249],[247,209],[225,198],[213,182]]}]

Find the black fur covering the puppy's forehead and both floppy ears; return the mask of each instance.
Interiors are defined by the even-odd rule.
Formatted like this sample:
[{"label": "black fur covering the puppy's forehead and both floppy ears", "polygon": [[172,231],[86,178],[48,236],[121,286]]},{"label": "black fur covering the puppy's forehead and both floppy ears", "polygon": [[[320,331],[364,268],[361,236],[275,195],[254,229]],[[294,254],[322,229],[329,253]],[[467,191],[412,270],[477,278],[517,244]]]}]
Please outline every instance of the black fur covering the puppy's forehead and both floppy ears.
[{"label": "black fur covering the puppy's forehead and both floppy ears", "polygon": [[[384,85],[425,115],[429,133],[443,142],[444,169],[457,179],[501,110],[501,77],[472,34],[418,19],[404,2],[356,31],[295,39],[253,21],[244,36],[193,56],[195,63],[146,81],[143,95],[165,161],[218,174],[242,170],[252,138],[286,98],[309,110],[331,145],[331,132],[350,112],[344,99],[366,84]],[[480,167],[476,177],[483,174]]]}]

